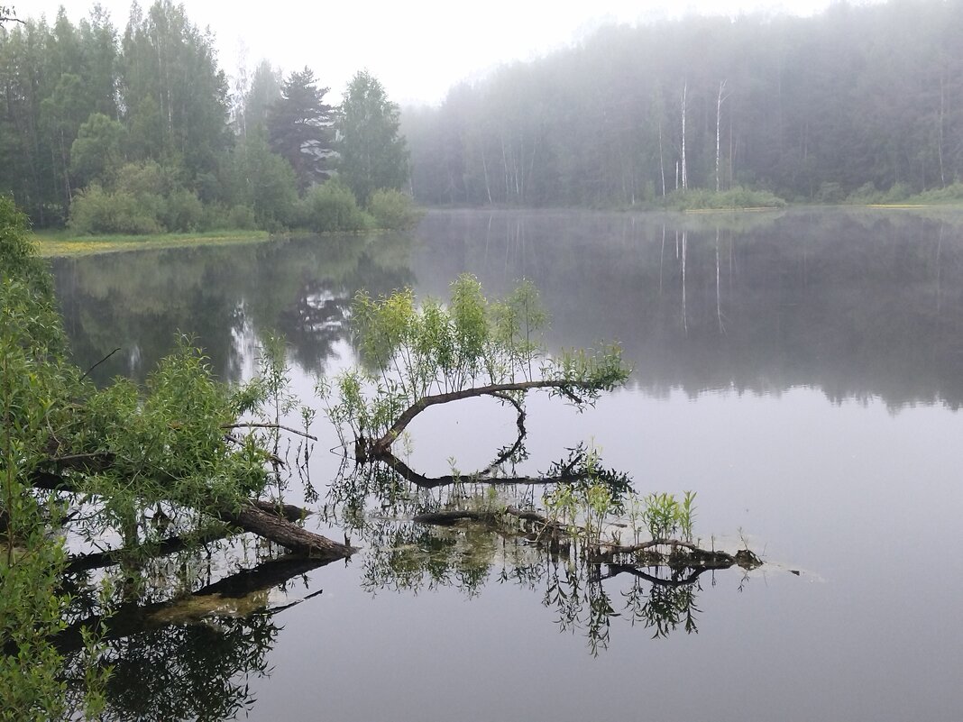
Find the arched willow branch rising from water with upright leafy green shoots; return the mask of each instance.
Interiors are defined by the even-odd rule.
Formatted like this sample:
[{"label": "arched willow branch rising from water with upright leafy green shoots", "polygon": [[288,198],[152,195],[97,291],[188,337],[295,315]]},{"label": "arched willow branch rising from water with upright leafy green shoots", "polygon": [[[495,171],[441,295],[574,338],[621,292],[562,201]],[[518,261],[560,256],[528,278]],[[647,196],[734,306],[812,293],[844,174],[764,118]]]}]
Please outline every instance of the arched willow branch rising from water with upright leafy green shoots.
[{"label": "arched willow branch rising from water with upright leafy green shoots", "polygon": [[343,444],[358,462],[384,459],[411,421],[429,406],[491,397],[523,414],[535,389],[584,408],[625,383],[617,345],[551,355],[540,343],[547,322],[534,285],[490,300],[479,280],[462,274],[442,304],[420,305],[404,289],[385,298],[354,298],[352,329],[360,367],[321,379],[320,396]]}]

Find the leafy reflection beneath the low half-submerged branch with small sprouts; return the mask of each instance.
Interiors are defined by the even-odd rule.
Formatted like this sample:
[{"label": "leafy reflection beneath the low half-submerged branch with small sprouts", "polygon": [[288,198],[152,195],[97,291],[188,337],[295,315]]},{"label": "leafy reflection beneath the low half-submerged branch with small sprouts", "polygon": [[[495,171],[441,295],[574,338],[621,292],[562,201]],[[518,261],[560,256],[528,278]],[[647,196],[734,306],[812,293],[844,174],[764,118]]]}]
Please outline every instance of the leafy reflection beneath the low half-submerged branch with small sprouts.
[{"label": "leafy reflection beneath the low half-submerged branch with small sprouts", "polygon": [[[431,512],[426,518],[432,514],[444,512]],[[540,589],[542,605],[555,610],[560,630],[584,633],[590,653],[598,655],[608,648],[612,617],[620,615],[609,587],[612,580],[624,578],[631,585],[619,593],[632,624],[642,623],[654,636],[680,629],[698,632],[698,580],[711,567],[603,564],[587,554],[562,560],[551,546],[522,537],[521,529],[507,524],[504,516],[499,525],[497,512],[455,515],[460,521],[446,519],[452,524],[442,528],[382,519],[363,529],[369,548],[365,588],[373,594],[382,589],[417,594],[424,588],[450,586],[471,597],[481,593],[487,580],[497,580]]]}]

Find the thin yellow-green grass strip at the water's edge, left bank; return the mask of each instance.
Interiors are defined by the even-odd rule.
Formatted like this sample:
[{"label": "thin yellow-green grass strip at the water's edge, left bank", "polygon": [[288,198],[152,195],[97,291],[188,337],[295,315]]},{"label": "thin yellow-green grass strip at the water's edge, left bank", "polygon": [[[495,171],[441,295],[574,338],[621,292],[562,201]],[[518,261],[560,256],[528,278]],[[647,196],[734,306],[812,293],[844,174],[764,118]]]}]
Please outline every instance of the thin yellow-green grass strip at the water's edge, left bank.
[{"label": "thin yellow-green grass strip at the water's edge, left bank", "polygon": [[83,256],[147,248],[176,248],[191,245],[243,244],[266,241],[267,231],[221,230],[198,233],[158,233],[149,236],[81,236],[68,230],[40,231],[33,234],[39,255]]}]

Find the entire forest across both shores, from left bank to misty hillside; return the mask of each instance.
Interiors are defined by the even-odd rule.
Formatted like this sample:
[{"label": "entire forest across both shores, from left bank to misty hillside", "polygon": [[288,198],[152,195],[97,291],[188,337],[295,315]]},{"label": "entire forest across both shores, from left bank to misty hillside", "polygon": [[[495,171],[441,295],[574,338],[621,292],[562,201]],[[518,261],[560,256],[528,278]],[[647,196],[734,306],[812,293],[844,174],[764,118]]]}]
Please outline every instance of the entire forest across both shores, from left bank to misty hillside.
[{"label": "entire forest across both shores, from left bank to misty hillside", "polygon": [[[79,233],[401,227],[420,205],[963,196],[963,6],[609,25],[401,109],[367,71],[229,75],[183,5],[0,23],[0,192]],[[688,200],[685,200],[686,198]],[[717,198],[716,198],[717,201]]]}]

